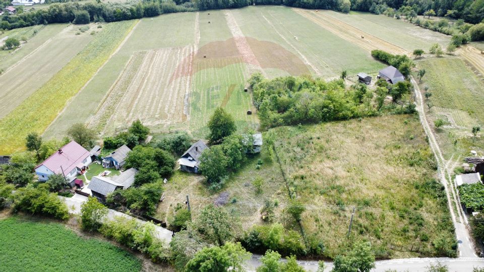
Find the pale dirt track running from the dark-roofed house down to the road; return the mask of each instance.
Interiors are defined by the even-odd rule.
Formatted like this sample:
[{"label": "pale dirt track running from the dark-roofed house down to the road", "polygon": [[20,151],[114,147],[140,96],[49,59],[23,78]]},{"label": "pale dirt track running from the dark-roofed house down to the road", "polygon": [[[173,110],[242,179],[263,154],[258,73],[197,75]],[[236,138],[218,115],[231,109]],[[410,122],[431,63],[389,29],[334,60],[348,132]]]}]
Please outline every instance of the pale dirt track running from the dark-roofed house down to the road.
[{"label": "pale dirt track running from the dark-roofed house down to the road", "polygon": [[[459,202],[456,197],[454,186],[450,186],[450,188],[448,186],[448,184],[454,184],[451,179],[450,170],[448,168],[450,164],[445,161],[444,156],[442,155],[442,151],[440,150],[439,144],[436,140],[435,134],[429,125],[425,110],[423,108],[424,104],[423,104],[422,93],[418,88],[418,84],[415,82],[413,77],[411,77],[411,82],[413,84],[415,95],[416,95],[415,102],[417,105],[416,108],[419,113],[418,115],[420,117],[420,122],[422,124],[423,130],[425,130],[425,133],[429,138],[429,146],[432,149],[432,152],[434,152],[435,158],[437,160],[437,164],[439,166],[439,170],[438,170],[439,177],[440,177],[441,183],[444,185],[445,193],[447,195],[447,204],[450,211],[450,215],[452,217],[452,223],[454,224],[455,235],[458,240],[459,256],[477,257],[474,250],[473,240],[469,235],[467,226],[463,223],[464,222],[463,215],[462,215],[463,212],[461,211],[460,205],[458,205]],[[457,217],[454,213],[454,206],[452,204],[452,201],[456,203],[457,217],[459,218],[459,222],[457,222]]]}]

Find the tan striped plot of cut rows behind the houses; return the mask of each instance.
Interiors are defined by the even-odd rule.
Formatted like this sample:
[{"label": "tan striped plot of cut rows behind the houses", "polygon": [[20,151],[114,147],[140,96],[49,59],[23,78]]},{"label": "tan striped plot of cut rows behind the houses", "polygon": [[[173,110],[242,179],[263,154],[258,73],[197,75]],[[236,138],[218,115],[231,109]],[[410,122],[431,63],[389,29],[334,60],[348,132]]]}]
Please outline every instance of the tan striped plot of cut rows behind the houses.
[{"label": "tan striped plot of cut rows behind the houses", "polygon": [[193,46],[137,52],[113,85],[90,122],[104,134],[136,119],[149,126],[183,123],[191,86]]}]

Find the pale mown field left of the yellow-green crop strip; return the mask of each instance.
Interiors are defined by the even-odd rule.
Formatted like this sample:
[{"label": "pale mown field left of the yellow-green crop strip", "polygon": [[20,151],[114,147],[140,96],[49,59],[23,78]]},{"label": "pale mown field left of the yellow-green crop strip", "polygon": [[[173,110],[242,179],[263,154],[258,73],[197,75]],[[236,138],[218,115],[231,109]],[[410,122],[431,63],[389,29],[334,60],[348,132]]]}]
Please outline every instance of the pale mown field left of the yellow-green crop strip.
[{"label": "pale mown field left of the yellow-green crop strip", "polygon": [[[76,35],[77,28],[73,26],[64,27],[61,31],[57,31],[55,28],[53,30],[56,31],[50,33],[54,34],[52,39],[34,48],[0,75],[0,86],[2,86],[0,88],[0,107],[2,108],[0,118],[5,117],[21,105],[25,99],[49,80],[58,81],[54,75],[61,71],[94,37],[87,32]],[[42,30],[39,35],[41,33]],[[26,48],[21,48],[21,50],[23,49]],[[19,53],[25,53],[21,50]],[[3,61],[0,62],[3,63]],[[7,62],[9,62],[8,59]]]}]

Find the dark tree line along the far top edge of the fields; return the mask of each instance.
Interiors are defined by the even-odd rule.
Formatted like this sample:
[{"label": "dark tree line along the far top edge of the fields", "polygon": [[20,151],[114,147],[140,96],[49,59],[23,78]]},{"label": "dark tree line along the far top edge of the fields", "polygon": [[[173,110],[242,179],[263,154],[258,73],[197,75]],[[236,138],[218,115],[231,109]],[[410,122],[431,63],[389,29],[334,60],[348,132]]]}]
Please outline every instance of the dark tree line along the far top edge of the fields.
[{"label": "dark tree line along the far top edge of the fields", "polygon": [[[63,1],[59,1],[63,2]],[[0,2],[4,8],[8,2]],[[153,17],[174,12],[203,11],[243,8],[250,5],[284,5],[305,9],[324,9],[348,13],[350,10],[381,14],[389,9],[392,13],[416,15],[438,15],[477,24],[484,19],[484,2],[470,0],[154,0],[138,3],[54,3],[48,9],[15,15],[4,15],[0,29],[14,29],[39,24],[89,22],[115,22]],[[435,12],[437,11],[437,12]],[[89,18],[89,21],[87,19]]]}]

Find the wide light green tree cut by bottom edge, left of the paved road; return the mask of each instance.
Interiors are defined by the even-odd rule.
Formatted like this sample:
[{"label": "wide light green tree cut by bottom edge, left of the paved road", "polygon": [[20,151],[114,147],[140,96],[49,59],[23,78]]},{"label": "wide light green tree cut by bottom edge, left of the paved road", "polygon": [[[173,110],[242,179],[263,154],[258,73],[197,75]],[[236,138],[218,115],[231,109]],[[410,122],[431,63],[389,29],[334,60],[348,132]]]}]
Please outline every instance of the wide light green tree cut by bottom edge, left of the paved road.
[{"label": "wide light green tree cut by bottom edge, left of the paved road", "polygon": [[187,263],[187,271],[226,272],[245,271],[244,264],[252,254],[240,243],[226,243],[223,246],[205,247]]}]

